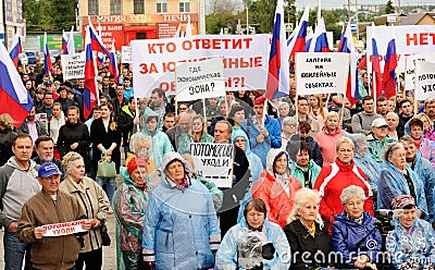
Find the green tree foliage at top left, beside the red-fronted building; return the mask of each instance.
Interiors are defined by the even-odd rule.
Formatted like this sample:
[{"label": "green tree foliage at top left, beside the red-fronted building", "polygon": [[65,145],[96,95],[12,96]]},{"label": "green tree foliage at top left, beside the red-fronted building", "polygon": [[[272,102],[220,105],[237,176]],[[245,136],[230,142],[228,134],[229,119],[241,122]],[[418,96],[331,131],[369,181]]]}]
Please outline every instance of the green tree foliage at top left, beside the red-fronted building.
[{"label": "green tree foliage at top left, beside the red-fronted building", "polygon": [[75,25],[77,0],[23,0],[27,30],[60,32]]}]

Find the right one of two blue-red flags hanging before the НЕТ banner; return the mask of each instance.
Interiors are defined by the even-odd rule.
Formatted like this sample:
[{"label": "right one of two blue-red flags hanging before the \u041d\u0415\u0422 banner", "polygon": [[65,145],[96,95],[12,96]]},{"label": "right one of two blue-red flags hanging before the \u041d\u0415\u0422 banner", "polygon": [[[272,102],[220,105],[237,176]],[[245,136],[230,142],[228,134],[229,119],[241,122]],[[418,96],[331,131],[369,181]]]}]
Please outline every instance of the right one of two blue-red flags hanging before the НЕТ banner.
[{"label": "right one of two blue-red flags hanging before the \u041d\u0415\u0422 banner", "polygon": [[384,74],[382,77],[382,88],[388,99],[396,96],[396,39],[393,38],[388,42],[387,54],[385,56]]}]

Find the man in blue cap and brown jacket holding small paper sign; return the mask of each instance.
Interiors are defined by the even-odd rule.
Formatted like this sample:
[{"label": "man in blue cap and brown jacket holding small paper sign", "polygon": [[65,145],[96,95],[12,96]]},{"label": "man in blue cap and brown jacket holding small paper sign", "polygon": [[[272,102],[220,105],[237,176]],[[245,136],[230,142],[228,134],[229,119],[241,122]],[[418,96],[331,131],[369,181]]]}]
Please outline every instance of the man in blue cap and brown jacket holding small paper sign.
[{"label": "man in blue cap and brown jacket holding small paper sign", "polygon": [[75,269],[75,261],[82,248],[80,241],[76,237],[80,237],[79,234],[91,226],[86,221],[82,224],[82,230],[79,230],[78,234],[66,232],[50,237],[46,235],[47,230],[44,225],[86,219],[85,210],[78,200],[59,191],[61,175],[54,163],[44,163],[38,170],[38,182],[42,191],[23,206],[17,236],[21,241],[32,244],[33,269]]}]

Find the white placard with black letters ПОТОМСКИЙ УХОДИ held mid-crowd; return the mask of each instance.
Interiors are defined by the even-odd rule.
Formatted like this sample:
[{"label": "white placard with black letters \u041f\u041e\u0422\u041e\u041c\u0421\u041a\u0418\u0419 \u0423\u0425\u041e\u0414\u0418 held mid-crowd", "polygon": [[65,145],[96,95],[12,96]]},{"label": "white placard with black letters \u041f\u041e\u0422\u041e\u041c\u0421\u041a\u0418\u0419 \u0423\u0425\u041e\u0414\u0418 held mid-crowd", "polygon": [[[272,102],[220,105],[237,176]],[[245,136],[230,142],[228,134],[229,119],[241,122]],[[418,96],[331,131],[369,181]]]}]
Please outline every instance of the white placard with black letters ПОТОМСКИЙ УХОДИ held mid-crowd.
[{"label": "white placard with black letters \u041f\u041e\u0422\u041e\u041c\u0421\u041a\u0418\u0419 \u0423\u0425\u041e\u0414\u0418 held mid-crowd", "polygon": [[232,144],[190,144],[195,172],[217,187],[232,187],[234,146]]}]

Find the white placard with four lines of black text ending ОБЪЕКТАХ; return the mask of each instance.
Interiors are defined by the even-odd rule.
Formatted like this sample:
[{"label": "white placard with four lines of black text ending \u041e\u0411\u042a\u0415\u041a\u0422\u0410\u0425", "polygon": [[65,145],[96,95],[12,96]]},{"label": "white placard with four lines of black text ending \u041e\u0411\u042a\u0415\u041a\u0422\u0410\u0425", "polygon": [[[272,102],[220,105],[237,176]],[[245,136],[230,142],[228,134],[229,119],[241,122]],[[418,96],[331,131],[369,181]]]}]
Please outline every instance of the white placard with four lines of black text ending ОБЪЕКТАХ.
[{"label": "white placard with four lines of black text ending \u041e\u0411\u042a\u0415\u041a\u0422\u0410\u0425", "polygon": [[298,95],[344,93],[349,72],[349,53],[296,53]]}]

